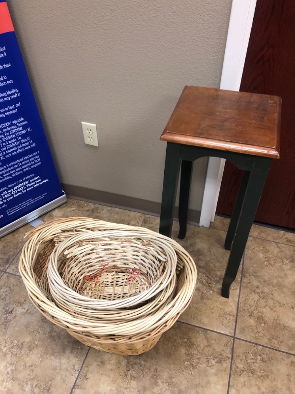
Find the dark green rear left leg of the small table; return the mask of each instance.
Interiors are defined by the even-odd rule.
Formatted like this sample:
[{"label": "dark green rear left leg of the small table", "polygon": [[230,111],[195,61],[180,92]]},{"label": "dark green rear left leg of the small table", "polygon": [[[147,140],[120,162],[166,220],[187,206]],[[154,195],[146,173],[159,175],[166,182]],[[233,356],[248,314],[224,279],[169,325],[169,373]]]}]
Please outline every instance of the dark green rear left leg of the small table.
[{"label": "dark green rear left leg of the small table", "polygon": [[187,228],[187,213],[189,204],[189,194],[192,179],[193,162],[182,160],[181,161],[181,175],[180,175],[180,190],[179,190],[179,234],[178,238],[183,239],[186,234]]}]

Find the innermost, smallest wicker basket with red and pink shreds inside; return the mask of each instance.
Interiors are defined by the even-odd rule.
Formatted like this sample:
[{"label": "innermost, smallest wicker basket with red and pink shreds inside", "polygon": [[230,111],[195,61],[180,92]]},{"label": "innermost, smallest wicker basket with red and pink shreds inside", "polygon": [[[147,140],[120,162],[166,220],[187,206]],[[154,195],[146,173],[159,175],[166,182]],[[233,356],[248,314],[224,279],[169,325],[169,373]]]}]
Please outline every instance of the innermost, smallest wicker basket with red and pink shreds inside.
[{"label": "innermost, smallest wicker basket with red and pink shreds inside", "polygon": [[91,316],[95,310],[136,306],[163,289],[172,291],[176,264],[173,247],[153,234],[92,231],[56,246],[48,282],[62,309]]}]

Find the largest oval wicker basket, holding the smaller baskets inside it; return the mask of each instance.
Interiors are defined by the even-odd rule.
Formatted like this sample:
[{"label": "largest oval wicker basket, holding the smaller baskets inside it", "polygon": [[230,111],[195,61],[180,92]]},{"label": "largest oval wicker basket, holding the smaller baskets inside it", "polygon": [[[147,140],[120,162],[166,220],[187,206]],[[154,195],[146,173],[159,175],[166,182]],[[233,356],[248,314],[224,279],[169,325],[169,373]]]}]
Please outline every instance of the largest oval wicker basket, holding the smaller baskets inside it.
[{"label": "largest oval wicker basket, holding the smaller baskets inside it", "polygon": [[[47,281],[48,263],[55,247],[77,234],[89,235],[92,231],[106,230],[153,234],[173,247],[177,256],[177,283],[166,300],[163,301],[164,292],[160,291],[143,305],[98,311],[93,317],[69,313],[56,304]],[[89,218],[66,218],[44,223],[30,231],[28,236],[19,269],[29,298],[48,320],[94,348],[125,355],[149,350],[161,334],[175,323],[193,296],[197,278],[193,260],[177,242],[153,231]]]}]

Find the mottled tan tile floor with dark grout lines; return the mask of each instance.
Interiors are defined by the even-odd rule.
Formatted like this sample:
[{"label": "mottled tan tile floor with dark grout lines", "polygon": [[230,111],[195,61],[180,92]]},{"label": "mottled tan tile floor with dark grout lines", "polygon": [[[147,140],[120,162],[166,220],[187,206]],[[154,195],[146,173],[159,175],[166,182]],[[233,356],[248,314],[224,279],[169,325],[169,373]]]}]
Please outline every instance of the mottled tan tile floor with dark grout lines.
[{"label": "mottled tan tile floor with dark grout lines", "polygon": [[[156,217],[71,199],[41,219],[69,216],[159,226]],[[253,226],[225,299],[227,226],[220,217],[210,229],[189,226],[180,244],[197,265],[195,296],[152,350],[129,357],[88,348],[47,321],[18,273],[31,226],[1,238],[0,393],[295,393],[295,234]]]}]

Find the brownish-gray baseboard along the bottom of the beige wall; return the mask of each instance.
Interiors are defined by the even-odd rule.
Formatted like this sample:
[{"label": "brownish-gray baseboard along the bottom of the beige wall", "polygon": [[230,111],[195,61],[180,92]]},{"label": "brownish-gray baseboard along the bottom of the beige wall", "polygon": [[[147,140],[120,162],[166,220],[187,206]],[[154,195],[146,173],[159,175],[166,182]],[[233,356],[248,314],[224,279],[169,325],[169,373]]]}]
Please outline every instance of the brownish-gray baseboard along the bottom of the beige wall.
[{"label": "brownish-gray baseboard along the bottom of the beige wall", "polygon": [[[81,186],[61,184],[62,190],[68,198],[92,202],[94,204],[113,206],[116,208],[127,209],[153,216],[160,216],[161,203],[145,200],[143,198],[122,196],[116,193],[103,192],[84,188]],[[199,225],[201,211],[189,209],[188,223]],[[178,217],[178,207],[175,209],[175,219]]]}]

